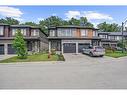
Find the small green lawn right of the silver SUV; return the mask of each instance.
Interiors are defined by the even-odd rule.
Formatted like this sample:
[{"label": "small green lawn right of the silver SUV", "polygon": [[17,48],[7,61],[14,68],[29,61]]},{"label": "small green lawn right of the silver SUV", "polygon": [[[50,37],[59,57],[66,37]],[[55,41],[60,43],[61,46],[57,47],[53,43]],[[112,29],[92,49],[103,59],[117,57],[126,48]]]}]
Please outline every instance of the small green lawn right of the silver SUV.
[{"label": "small green lawn right of the silver SUV", "polygon": [[114,58],[119,58],[119,57],[127,56],[127,52],[124,53],[122,53],[122,51],[107,52],[105,55]]}]

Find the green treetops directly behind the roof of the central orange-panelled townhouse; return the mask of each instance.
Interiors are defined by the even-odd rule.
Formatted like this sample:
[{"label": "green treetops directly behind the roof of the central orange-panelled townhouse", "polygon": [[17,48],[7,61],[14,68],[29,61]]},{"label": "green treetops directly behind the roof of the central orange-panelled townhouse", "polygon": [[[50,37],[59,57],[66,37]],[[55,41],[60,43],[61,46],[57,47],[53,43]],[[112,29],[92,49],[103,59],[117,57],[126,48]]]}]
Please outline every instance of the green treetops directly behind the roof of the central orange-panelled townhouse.
[{"label": "green treetops directly behind the roof of the central orange-panelled townhouse", "polygon": [[93,24],[88,22],[86,17],[80,19],[71,18],[70,20],[63,20],[58,16],[51,16],[39,22],[39,26],[47,32],[47,28],[51,26],[64,26],[64,25],[79,25],[86,27],[93,27]]}]

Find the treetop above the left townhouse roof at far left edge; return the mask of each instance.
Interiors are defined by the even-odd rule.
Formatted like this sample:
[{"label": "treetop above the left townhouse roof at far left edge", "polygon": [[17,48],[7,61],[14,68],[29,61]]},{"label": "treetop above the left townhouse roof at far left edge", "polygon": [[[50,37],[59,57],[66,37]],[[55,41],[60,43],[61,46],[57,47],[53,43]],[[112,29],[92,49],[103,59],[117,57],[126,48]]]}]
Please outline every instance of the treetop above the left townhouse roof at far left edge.
[{"label": "treetop above the left townhouse roof at far left edge", "polygon": [[9,25],[17,25],[19,24],[19,21],[11,17],[6,17],[6,18],[1,18],[0,23],[9,24]]}]

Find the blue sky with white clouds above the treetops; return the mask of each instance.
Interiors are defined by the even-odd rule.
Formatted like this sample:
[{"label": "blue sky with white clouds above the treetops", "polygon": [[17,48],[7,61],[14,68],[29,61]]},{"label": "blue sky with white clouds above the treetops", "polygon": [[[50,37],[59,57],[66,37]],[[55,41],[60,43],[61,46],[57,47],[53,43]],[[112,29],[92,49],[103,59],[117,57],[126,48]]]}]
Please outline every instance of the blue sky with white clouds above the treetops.
[{"label": "blue sky with white clouds above the treetops", "polygon": [[38,23],[50,16],[64,20],[87,17],[95,27],[104,21],[120,25],[127,17],[127,6],[0,6],[0,18],[12,17],[22,23]]}]

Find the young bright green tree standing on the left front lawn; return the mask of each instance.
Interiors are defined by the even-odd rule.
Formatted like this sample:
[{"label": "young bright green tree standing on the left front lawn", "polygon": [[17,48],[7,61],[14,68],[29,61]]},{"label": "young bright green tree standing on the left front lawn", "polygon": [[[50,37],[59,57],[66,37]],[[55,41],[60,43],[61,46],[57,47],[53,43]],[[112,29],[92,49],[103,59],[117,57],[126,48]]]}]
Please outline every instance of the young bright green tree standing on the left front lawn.
[{"label": "young bright green tree standing on the left front lawn", "polygon": [[16,50],[16,53],[18,55],[18,58],[25,59],[27,58],[27,47],[26,42],[23,38],[23,34],[20,30],[16,31],[16,36],[13,41],[13,47]]}]

